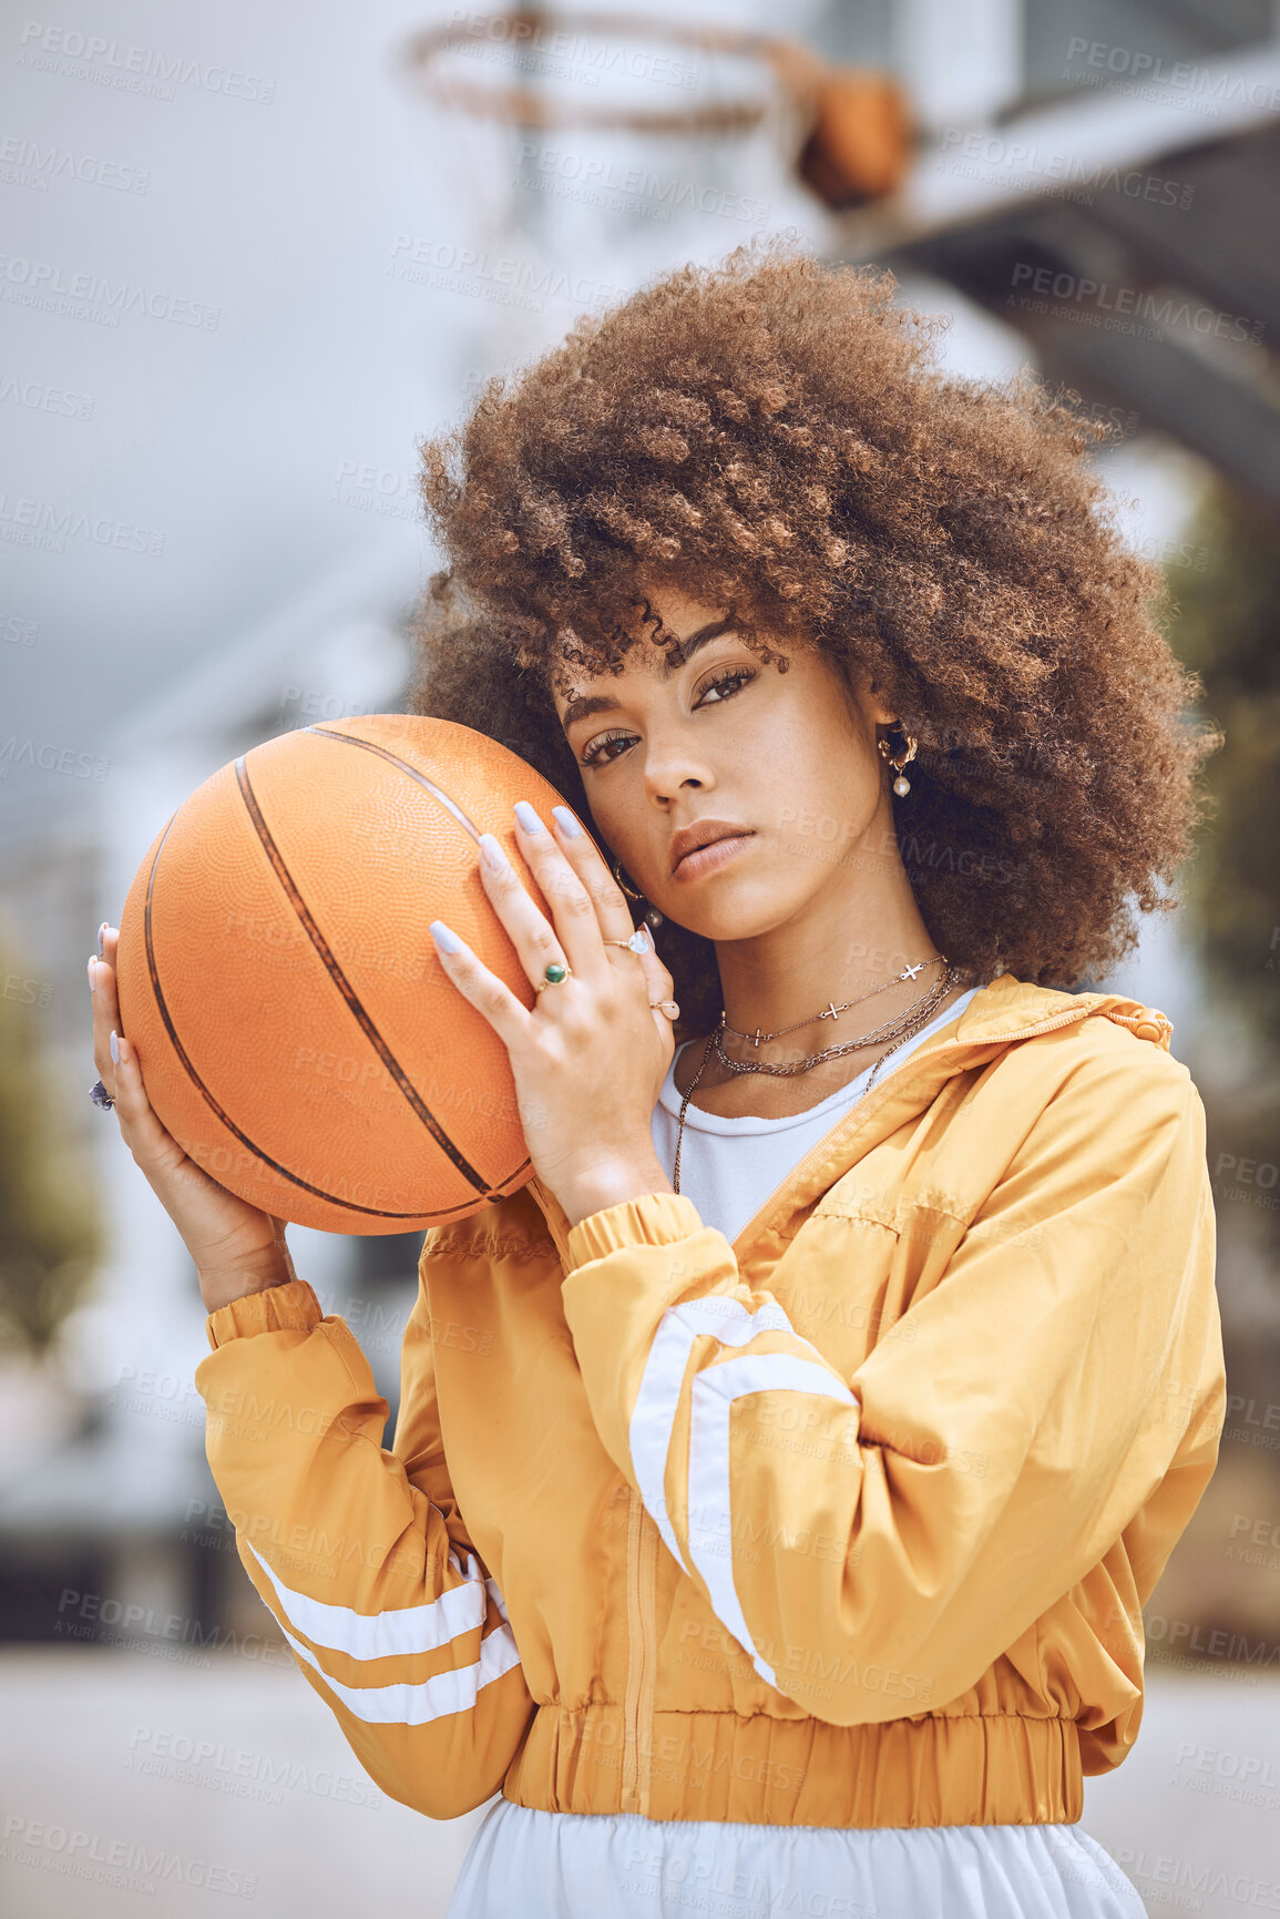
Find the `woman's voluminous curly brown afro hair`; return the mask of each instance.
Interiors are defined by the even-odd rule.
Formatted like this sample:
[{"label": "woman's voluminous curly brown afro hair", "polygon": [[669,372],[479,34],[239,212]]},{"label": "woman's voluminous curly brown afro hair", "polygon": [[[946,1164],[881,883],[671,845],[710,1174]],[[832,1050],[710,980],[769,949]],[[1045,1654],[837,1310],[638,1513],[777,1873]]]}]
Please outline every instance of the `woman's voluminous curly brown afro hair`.
[{"label": "woman's voluminous curly brown afro hair", "polygon": [[[898,846],[969,979],[1103,977],[1173,883],[1222,735],[1086,459],[1105,430],[1029,372],[942,372],[892,274],[791,234],[580,319],[420,443],[447,566],[415,618],[407,710],[461,722],[591,808],[553,689],[616,674],[660,583],[731,608],[785,672],[819,647],[919,741]],[[603,848],[608,856],[608,848]],[[1130,904],[1132,902],[1132,904]],[[687,1031],[720,1017],[710,940],[658,931]]]}]

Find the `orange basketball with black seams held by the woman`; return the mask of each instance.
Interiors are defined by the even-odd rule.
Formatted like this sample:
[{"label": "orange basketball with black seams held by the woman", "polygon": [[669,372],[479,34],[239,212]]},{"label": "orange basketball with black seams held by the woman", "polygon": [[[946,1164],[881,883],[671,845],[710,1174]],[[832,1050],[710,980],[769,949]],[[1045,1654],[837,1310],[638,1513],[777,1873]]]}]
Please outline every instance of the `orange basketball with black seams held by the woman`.
[{"label": "orange basketball with black seams held by the woman", "polygon": [[466,1219],[532,1176],[507,1048],[447,977],[443,919],[532,1007],[480,879],[512,802],[560,794],[449,720],[265,741],[192,793],[125,900],[121,1027],[161,1125],[228,1192],[324,1232]]}]

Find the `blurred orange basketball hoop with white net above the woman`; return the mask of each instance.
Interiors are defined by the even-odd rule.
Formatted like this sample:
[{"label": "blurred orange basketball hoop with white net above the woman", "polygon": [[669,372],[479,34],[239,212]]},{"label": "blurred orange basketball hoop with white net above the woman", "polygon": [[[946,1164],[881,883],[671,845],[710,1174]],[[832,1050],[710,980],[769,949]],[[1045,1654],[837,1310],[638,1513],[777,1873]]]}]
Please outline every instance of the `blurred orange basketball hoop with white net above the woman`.
[{"label": "blurred orange basketball hoop with white net above the woman", "polygon": [[436,367],[464,355],[464,388],[762,230],[827,251],[833,213],[908,163],[890,79],[737,27],[455,12],[403,42],[399,71],[428,104],[430,200],[388,271],[432,299]]}]

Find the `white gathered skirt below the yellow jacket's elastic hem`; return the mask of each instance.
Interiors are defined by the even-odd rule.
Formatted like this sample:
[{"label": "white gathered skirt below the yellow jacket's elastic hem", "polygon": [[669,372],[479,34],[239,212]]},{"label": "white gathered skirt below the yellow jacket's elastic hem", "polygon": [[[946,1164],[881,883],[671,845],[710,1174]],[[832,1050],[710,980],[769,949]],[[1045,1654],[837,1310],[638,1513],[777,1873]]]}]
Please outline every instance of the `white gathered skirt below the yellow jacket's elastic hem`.
[{"label": "white gathered skirt below the yellow jacket's elastic hem", "polygon": [[1079,1825],[821,1827],[533,1812],[497,1798],[447,1919],[1146,1919]]}]

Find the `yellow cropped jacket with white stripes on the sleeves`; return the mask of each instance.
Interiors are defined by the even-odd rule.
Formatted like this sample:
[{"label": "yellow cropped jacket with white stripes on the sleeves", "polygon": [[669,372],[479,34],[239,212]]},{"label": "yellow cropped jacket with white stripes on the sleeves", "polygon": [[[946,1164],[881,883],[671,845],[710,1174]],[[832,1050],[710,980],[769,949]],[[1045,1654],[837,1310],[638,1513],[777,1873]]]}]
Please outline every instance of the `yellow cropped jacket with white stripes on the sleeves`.
[{"label": "yellow cropped jacket with white stripes on the sleeves", "polygon": [[762,1201],[428,1232],[390,1451],[305,1280],[209,1315],[240,1558],[391,1798],[1075,1821],[1132,1746],[1226,1399],[1165,1017],[1004,973]]}]

